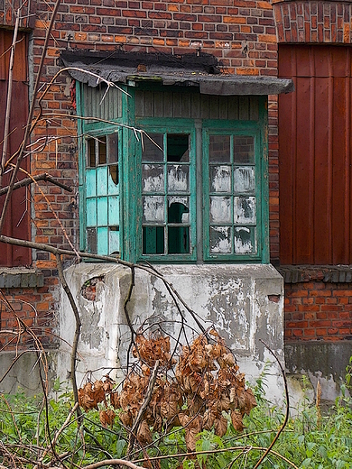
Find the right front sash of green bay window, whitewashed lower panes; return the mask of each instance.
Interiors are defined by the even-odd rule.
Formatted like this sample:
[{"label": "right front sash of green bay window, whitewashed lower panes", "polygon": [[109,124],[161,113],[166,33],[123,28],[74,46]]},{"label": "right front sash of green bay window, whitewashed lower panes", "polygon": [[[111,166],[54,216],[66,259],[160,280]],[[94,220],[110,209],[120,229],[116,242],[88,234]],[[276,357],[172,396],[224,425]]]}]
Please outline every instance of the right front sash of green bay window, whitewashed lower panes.
[{"label": "right front sash of green bay window, whitewashed lower panes", "polygon": [[206,260],[259,255],[257,136],[236,132],[204,132]]}]

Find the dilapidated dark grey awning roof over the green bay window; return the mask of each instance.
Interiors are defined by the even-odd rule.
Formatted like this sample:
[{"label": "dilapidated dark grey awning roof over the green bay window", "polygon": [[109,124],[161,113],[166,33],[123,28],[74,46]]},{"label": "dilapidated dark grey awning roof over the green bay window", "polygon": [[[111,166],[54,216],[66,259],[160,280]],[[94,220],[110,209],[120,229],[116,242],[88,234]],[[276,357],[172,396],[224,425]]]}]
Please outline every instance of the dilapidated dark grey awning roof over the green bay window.
[{"label": "dilapidated dark grey awning roof over the green bay window", "polygon": [[[97,87],[103,78],[136,86],[138,82],[198,87],[205,95],[278,95],[294,90],[287,78],[224,73],[217,58],[199,52],[175,56],[146,52],[62,51],[61,60],[72,78]],[[87,72],[93,73],[90,75]],[[97,76],[99,78],[97,78]]]}]

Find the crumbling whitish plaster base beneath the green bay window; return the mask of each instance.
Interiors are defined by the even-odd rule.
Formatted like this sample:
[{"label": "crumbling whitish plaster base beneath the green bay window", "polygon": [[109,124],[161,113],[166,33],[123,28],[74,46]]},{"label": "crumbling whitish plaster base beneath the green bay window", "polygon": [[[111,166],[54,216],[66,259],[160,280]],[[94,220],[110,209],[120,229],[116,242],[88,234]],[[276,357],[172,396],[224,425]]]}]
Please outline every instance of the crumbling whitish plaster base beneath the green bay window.
[{"label": "crumbling whitish plaster base beneath the green bay window", "polygon": [[[205,328],[217,327],[249,381],[255,381],[268,360],[274,362],[260,339],[283,362],[283,278],[273,266],[162,265],[157,270],[171,282]],[[121,378],[130,344],[124,313],[130,270],[117,264],[82,263],[69,267],[65,276],[78,301],[82,320],[79,383],[89,372],[100,378],[112,370],[112,376]],[[97,281],[94,294],[83,296],[82,286],[88,286],[89,280],[97,277],[101,280]],[[75,323],[63,292],[61,299],[60,336],[64,341],[60,343],[57,372],[61,378],[67,378]],[[135,287],[127,308],[135,329],[150,326],[151,330],[153,325],[162,325],[171,337],[178,336],[180,314],[162,280],[155,276],[136,269]],[[184,310],[183,313],[191,339],[199,332],[199,326],[190,313]],[[271,399],[281,400],[283,380],[276,363],[267,369],[266,381]]]}]

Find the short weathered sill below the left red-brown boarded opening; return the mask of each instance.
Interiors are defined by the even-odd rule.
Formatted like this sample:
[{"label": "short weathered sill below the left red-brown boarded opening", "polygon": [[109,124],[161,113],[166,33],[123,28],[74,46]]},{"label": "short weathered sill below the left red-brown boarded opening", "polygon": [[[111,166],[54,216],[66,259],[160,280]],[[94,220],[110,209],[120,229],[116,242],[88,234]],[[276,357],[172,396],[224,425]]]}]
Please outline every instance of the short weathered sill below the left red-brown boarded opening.
[{"label": "short weathered sill below the left red-brown boarded opening", "polygon": [[43,285],[44,276],[41,271],[16,267],[3,267],[0,270],[0,289],[29,289]]}]

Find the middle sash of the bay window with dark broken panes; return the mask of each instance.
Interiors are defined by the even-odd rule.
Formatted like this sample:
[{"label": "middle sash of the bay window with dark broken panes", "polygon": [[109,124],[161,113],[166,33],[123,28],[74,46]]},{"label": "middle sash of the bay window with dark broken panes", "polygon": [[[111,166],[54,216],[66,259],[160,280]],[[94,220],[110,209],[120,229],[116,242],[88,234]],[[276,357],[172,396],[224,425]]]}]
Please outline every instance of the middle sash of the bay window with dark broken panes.
[{"label": "middle sash of the bay window with dark broken panes", "polygon": [[[148,133],[142,149],[142,254],[192,256],[191,133]],[[194,160],[194,158],[193,158]],[[194,229],[194,228],[193,228]]]}]

